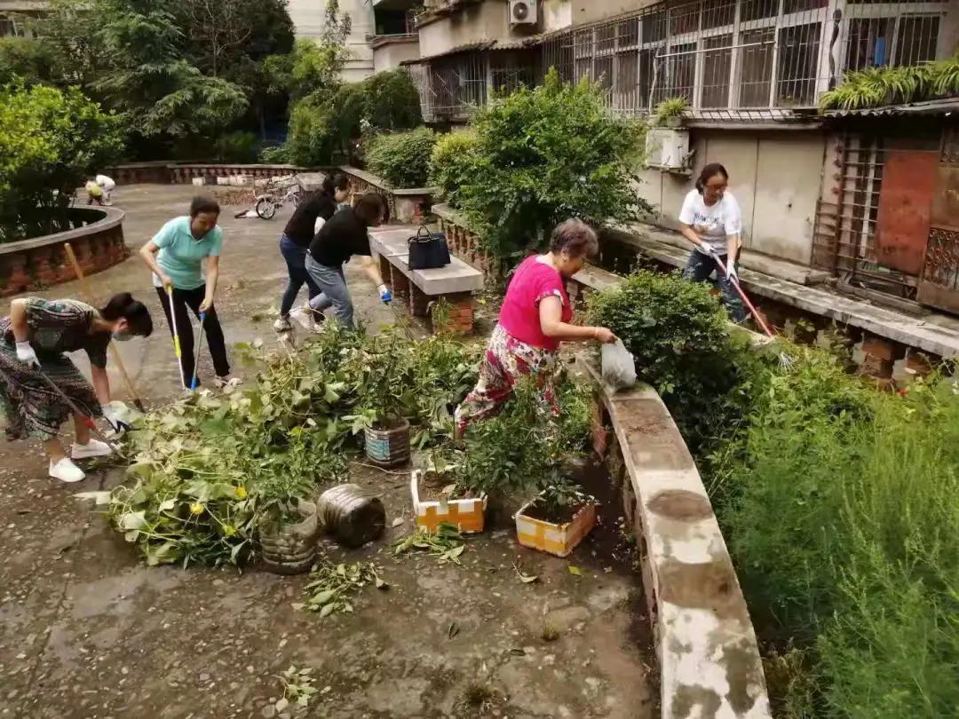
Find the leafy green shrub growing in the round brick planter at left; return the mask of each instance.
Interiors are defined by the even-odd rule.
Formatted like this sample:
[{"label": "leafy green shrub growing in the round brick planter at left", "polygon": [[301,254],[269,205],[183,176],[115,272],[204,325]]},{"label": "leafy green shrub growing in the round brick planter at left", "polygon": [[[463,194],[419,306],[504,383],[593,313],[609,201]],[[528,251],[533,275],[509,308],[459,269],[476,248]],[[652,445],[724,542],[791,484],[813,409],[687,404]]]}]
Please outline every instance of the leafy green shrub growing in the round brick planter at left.
[{"label": "leafy green shrub growing in the round brick planter at left", "polygon": [[120,121],[80,90],[0,88],[0,241],[57,229],[86,174],[123,150]]}]

